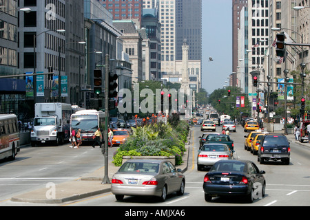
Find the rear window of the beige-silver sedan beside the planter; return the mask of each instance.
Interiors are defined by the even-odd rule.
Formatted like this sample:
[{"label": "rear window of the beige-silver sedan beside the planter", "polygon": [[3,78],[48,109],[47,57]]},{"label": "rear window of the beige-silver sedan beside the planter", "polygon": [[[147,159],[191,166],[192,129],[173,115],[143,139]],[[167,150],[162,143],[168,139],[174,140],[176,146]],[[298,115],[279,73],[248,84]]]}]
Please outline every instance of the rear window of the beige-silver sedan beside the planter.
[{"label": "rear window of the beige-silver sedan beside the planter", "polygon": [[158,173],[159,164],[149,162],[125,162],[119,173]]}]

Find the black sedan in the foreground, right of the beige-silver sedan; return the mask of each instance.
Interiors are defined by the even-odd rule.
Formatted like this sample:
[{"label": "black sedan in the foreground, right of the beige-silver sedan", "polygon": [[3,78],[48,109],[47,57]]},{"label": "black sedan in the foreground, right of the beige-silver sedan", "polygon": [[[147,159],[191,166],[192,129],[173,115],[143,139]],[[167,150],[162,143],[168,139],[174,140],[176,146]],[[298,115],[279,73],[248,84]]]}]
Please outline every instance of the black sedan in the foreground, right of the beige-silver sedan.
[{"label": "black sedan in the foreground, right of the beige-silver sedan", "polygon": [[225,159],[211,167],[203,180],[205,201],[218,196],[245,196],[251,203],[265,196],[265,171],[249,160]]}]

